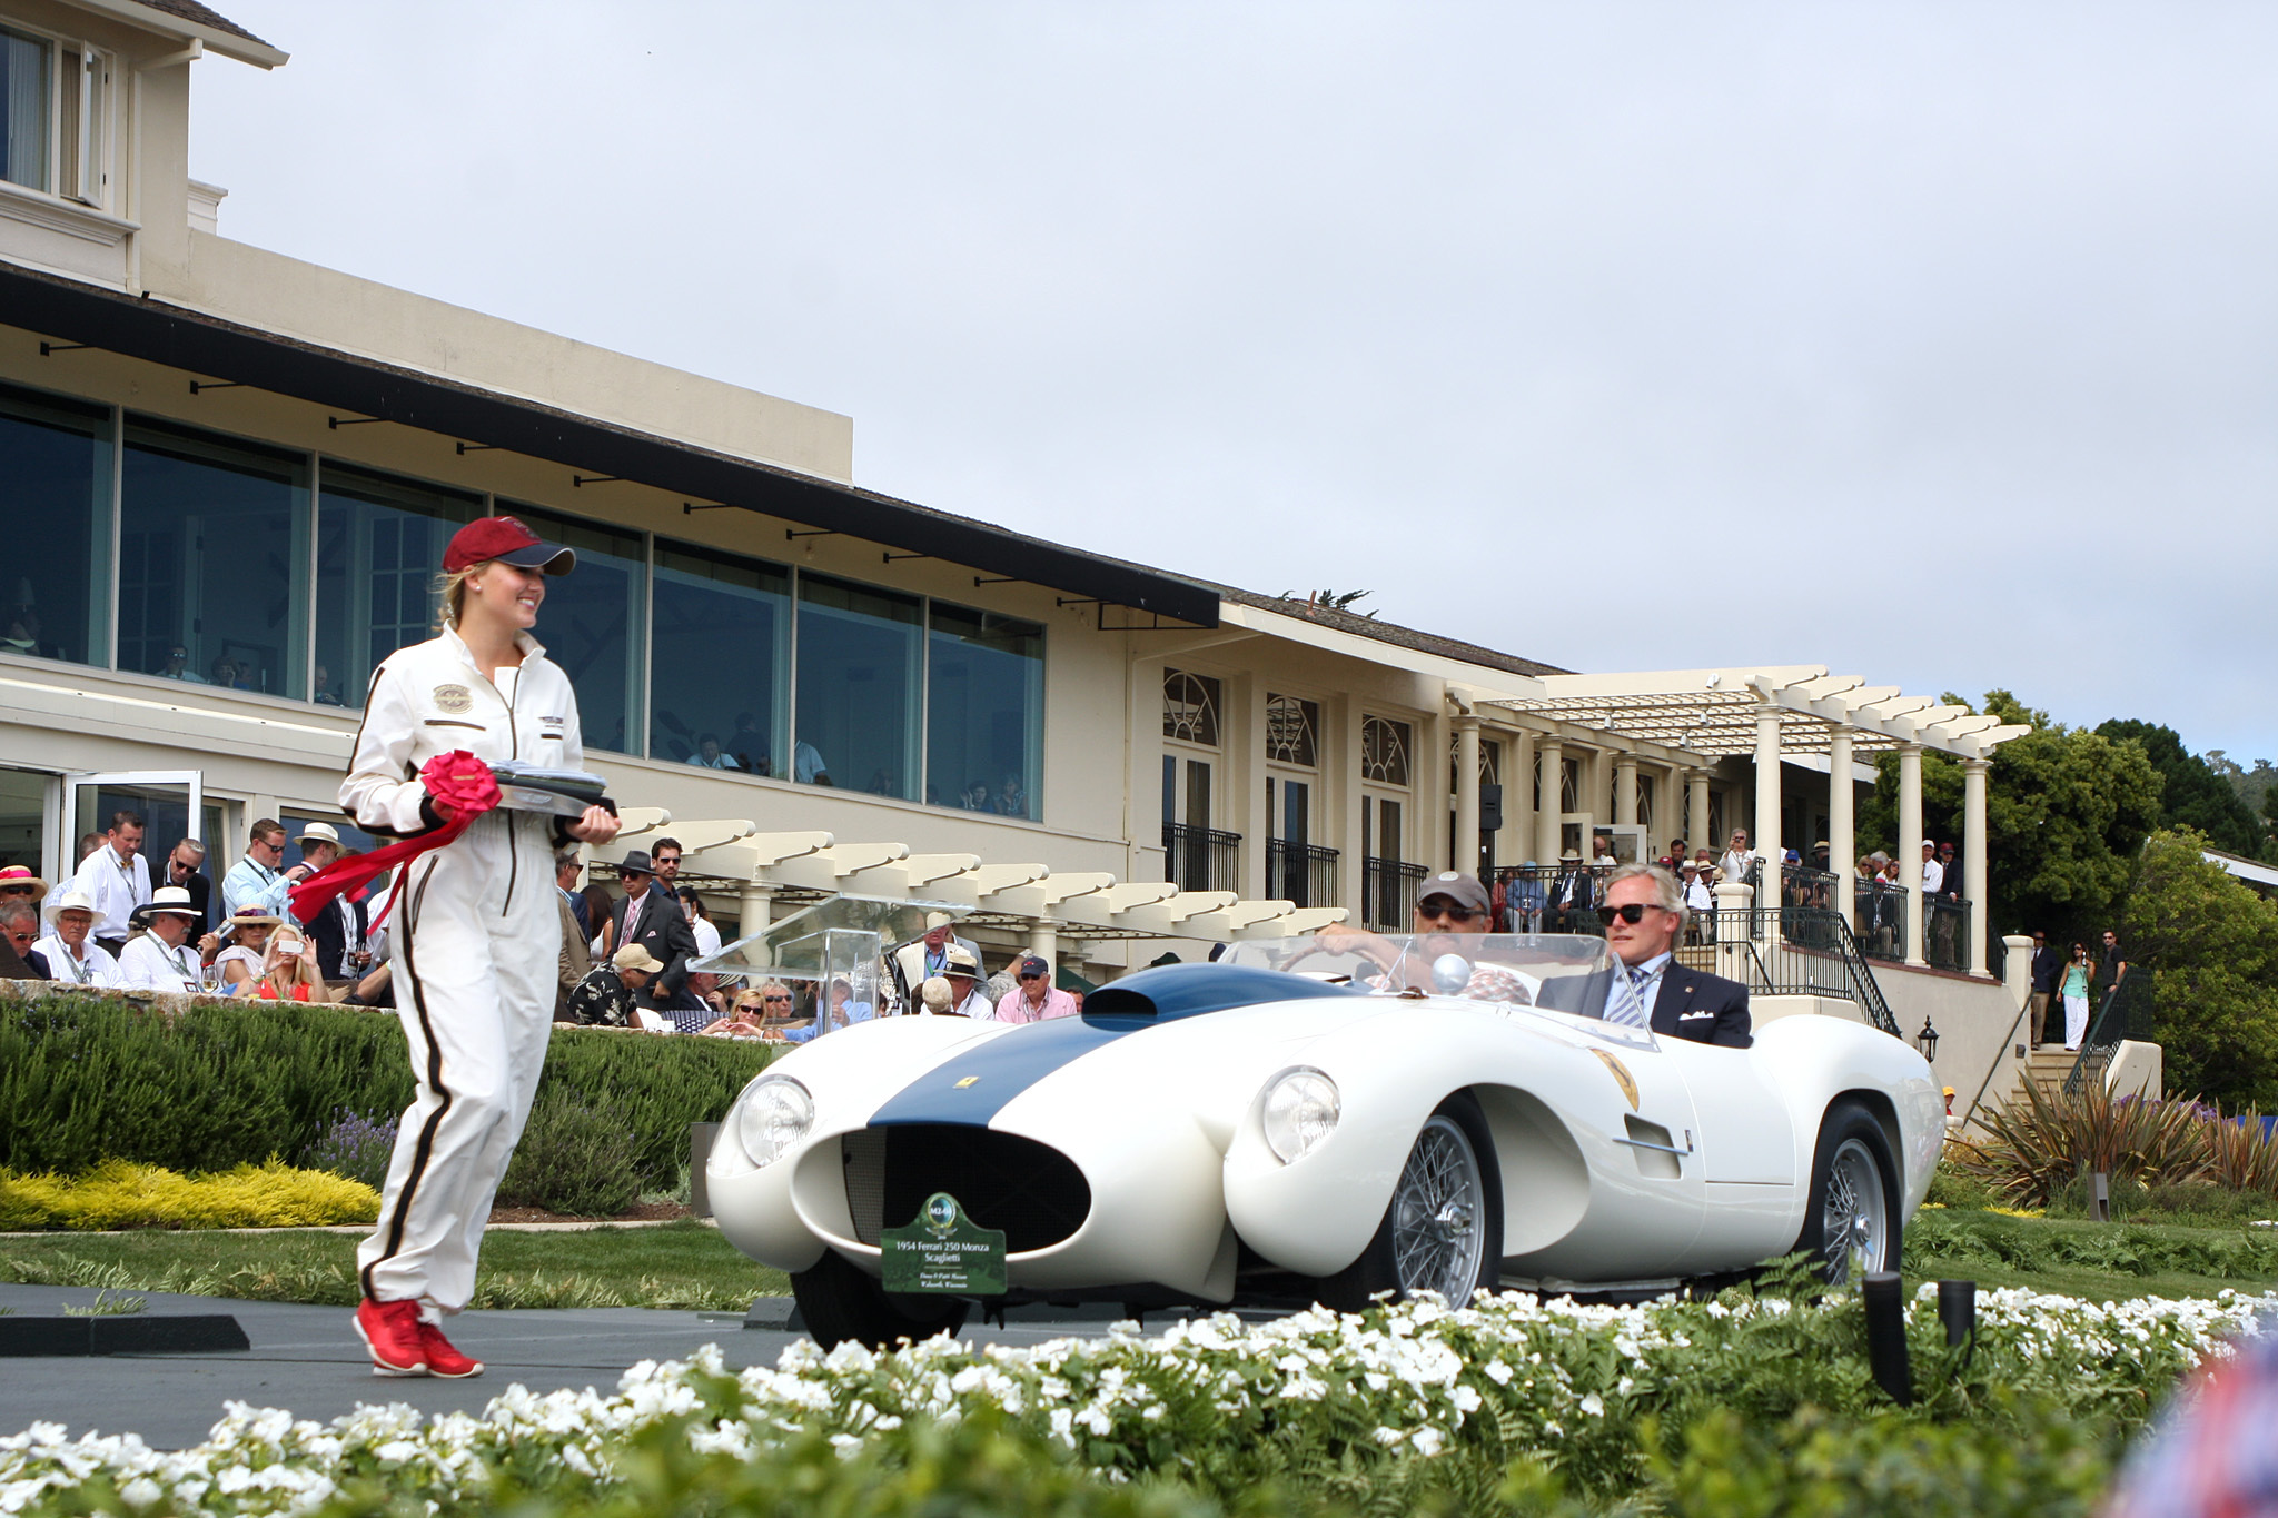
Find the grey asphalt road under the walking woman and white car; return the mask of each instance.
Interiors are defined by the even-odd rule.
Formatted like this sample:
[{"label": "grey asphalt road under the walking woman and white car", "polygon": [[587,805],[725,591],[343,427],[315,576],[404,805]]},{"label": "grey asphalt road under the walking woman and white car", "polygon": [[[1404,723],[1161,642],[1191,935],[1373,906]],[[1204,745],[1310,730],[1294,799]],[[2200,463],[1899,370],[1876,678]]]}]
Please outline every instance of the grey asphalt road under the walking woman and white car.
[{"label": "grey asphalt road under the walking woman and white car", "polygon": [[[116,1295],[116,1293],[114,1293]],[[663,1313],[638,1306],[522,1309],[460,1313],[449,1334],[485,1363],[481,1377],[374,1377],[344,1306],[292,1306],[221,1297],[146,1297],[146,1315],[230,1313],[253,1343],[226,1354],[107,1354],[0,1359],[0,1434],[34,1422],[62,1422],[71,1434],[141,1434],[159,1450],[200,1443],[228,1402],[282,1406],[326,1422],[360,1402],[410,1402],[424,1413],[478,1411],[519,1381],[531,1391],[613,1391],[626,1366],[686,1359],[697,1345],[720,1345],[729,1366],[772,1363],[800,1338],[777,1327],[745,1327],[738,1313]],[[0,1284],[0,1309],[14,1318],[57,1315],[87,1306],[93,1290]],[[763,1300],[756,1320],[779,1322],[788,1302]],[[1089,1318],[1027,1309],[1002,1329],[968,1325],[966,1338],[1032,1345],[1071,1334],[1103,1334],[1107,1313]],[[1148,1320],[1155,1327],[1155,1320]]]}]

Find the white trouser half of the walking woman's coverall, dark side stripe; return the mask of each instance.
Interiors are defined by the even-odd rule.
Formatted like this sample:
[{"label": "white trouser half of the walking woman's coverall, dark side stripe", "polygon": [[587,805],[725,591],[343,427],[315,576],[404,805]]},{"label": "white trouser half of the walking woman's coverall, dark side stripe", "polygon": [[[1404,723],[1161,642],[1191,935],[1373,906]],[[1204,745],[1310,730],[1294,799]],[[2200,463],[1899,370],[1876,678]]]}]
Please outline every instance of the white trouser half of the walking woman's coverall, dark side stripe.
[{"label": "white trouser half of the walking woman's coverall, dark side stripe", "polygon": [[522,817],[513,833],[503,815],[483,817],[412,860],[396,901],[396,1020],[415,1095],[355,1268],[367,1297],[419,1302],[428,1320],[474,1295],[483,1224],[554,1033],[560,910],[544,822]]}]

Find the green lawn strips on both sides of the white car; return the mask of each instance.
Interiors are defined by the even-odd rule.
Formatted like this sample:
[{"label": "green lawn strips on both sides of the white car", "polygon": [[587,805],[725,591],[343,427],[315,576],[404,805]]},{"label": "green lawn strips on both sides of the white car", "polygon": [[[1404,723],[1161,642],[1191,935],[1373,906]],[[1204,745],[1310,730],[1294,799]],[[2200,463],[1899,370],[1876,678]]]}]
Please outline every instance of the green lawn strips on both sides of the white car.
[{"label": "green lawn strips on both sides of the white car", "polygon": [[[2278,1229],[1918,1213],[1907,1274],[2073,1297],[2212,1297],[2278,1286]],[[0,1281],[185,1290],[257,1302],[355,1304],[355,1236],[52,1234],[0,1238]],[[699,1222],[483,1238],[474,1306],[677,1306],[740,1311],[788,1293]]]}]

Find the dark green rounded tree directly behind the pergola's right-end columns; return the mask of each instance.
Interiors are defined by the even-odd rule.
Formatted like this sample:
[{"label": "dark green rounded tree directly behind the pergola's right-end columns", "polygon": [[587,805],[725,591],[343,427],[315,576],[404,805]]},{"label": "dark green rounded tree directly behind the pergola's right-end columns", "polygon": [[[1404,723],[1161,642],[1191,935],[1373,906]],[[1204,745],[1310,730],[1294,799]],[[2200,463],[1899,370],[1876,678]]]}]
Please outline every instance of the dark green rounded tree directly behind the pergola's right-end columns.
[{"label": "dark green rounded tree directly behind the pergola's right-end columns", "polygon": [[[2100,933],[2160,819],[2160,772],[2141,744],[2066,728],[2005,690],[1986,692],[1984,712],[2032,728],[1996,749],[1986,774],[1986,929]],[[1882,753],[1875,769],[1859,838],[1895,851],[1898,756]],[[1923,833],[1961,842],[1961,762],[1943,753],[1923,756]]]}]

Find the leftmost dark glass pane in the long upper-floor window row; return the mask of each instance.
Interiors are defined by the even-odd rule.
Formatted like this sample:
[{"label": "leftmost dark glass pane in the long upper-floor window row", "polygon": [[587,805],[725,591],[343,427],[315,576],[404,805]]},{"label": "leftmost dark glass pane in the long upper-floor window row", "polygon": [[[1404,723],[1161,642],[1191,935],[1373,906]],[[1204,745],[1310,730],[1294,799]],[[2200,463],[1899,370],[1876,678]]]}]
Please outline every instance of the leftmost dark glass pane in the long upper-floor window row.
[{"label": "leftmost dark glass pane in the long upper-floor window row", "polygon": [[0,385],[0,651],[109,662],[109,407]]}]

